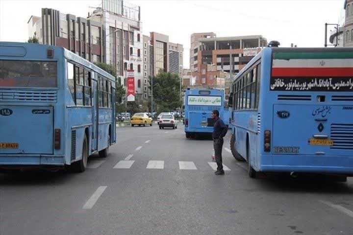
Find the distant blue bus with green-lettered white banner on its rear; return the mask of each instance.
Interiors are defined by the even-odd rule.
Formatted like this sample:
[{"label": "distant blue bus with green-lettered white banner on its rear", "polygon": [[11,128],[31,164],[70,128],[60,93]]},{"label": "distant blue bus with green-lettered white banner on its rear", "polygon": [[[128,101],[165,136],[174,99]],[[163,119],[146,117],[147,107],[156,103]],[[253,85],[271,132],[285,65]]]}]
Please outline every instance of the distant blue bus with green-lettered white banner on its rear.
[{"label": "distant blue bus with green-lettered white banner on its rear", "polygon": [[220,117],[224,115],[223,90],[188,89],[185,91],[185,136],[195,137],[198,133],[212,133],[214,120],[212,110],[218,110]]}]

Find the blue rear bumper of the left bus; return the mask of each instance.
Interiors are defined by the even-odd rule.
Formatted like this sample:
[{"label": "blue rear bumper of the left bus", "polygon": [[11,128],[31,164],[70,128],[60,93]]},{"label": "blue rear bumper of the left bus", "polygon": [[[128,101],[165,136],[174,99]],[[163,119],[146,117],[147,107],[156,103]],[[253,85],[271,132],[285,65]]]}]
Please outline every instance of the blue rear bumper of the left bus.
[{"label": "blue rear bumper of the left bus", "polygon": [[64,155],[0,155],[0,168],[3,166],[41,166],[65,164]]}]

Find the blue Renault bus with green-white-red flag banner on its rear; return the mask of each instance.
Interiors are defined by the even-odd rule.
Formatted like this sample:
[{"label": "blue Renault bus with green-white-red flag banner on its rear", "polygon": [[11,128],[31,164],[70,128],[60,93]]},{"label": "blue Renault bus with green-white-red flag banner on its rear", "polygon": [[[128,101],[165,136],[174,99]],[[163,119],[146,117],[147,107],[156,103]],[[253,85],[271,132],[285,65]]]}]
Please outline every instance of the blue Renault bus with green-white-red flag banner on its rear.
[{"label": "blue Renault bus with green-white-red flag banner on its rear", "polygon": [[266,47],[231,91],[230,148],[250,177],[353,176],[352,48]]}]

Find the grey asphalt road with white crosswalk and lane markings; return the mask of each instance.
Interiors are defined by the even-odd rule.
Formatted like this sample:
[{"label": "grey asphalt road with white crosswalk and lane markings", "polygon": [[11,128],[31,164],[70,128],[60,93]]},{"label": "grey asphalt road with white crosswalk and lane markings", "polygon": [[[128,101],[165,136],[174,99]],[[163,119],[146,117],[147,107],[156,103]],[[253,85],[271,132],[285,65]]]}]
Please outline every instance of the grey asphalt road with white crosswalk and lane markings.
[{"label": "grey asphalt road with white crosswalk and lane markings", "polygon": [[251,179],[229,149],[216,176],[182,128],[119,127],[81,174],[0,174],[0,235],[353,235],[353,178]]}]

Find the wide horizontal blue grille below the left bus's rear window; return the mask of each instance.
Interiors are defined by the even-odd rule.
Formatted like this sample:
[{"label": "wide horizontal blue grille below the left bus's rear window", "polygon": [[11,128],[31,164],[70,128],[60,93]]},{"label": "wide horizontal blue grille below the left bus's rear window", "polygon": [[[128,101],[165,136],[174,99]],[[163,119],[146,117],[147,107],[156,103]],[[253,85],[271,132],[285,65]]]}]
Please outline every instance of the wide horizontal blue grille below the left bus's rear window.
[{"label": "wide horizontal blue grille below the left bus's rear window", "polygon": [[54,102],[56,103],[56,91],[0,91],[2,102]]}]

